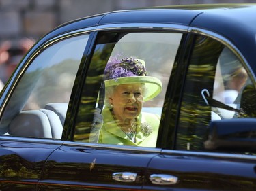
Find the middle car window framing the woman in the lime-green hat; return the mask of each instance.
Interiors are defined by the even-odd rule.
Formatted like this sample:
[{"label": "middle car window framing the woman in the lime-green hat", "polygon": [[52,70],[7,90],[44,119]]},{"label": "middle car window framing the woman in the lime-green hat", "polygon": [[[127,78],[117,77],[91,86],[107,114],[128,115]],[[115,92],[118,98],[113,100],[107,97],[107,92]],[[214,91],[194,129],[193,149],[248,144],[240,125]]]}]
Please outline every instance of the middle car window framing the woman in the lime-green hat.
[{"label": "middle car window framing the woman in the lime-green hat", "polygon": [[[83,88],[74,140],[156,147],[167,84],[181,39],[182,33],[100,33]],[[130,99],[136,101],[126,103]],[[91,121],[100,116],[102,126],[96,121],[95,127]],[[98,137],[94,139],[94,135]]]}]

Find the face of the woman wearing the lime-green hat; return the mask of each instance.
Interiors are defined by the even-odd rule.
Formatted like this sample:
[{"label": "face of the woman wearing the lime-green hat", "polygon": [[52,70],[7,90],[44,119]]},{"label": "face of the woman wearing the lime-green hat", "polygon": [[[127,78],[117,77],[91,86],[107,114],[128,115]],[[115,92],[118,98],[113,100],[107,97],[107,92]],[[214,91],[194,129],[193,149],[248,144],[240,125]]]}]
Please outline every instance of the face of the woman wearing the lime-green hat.
[{"label": "face of the woman wearing the lime-green hat", "polygon": [[133,119],[141,113],[143,103],[142,84],[122,84],[115,87],[109,97],[113,113],[118,120]]}]

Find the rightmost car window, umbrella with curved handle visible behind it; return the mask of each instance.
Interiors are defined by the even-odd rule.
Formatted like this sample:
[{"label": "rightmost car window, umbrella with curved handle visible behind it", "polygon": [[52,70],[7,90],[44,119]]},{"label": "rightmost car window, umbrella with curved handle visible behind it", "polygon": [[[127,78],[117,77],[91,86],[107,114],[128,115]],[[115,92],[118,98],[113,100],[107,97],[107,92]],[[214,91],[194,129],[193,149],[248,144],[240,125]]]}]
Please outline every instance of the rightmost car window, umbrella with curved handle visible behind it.
[{"label": "rightmost car window, umbrella with curved handle visible behind it", "polygon": [[[255,86],[248,68],[237,55],[215,39],[196,37],[180,109],[178,150],[210,149],[213,143],[208,139],[214,138],[208,133],[214,121],[255,118]],[[225,125],[219,130],[227,133],[228,128]],[[240,140],[246,139],[243,128],[240,126],[235,131],[233,126],[233,131],[224,133],[223,139],[231,140],[239,136]],[[247,138],[250,139],[250,135]],[[217,145],[214,147],[218,150]],[[227,147],[226,152],[231,152],[231,146]]]}]

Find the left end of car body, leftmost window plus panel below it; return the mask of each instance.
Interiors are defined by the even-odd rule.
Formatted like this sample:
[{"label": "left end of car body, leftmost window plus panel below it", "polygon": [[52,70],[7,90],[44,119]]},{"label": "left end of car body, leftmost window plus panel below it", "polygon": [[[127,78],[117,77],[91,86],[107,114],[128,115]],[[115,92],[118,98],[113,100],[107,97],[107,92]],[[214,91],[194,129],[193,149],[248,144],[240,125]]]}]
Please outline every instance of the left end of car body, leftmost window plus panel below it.
[{"label": "left end of car body, leftmost window plus panel below it", "polygon": [[37,189],[48,156],[63,144],[63,118],[49,108],[69,101],[87,41],[89,33],[74,31],[38,42],[6,86],[1,97],[0,190]]}]

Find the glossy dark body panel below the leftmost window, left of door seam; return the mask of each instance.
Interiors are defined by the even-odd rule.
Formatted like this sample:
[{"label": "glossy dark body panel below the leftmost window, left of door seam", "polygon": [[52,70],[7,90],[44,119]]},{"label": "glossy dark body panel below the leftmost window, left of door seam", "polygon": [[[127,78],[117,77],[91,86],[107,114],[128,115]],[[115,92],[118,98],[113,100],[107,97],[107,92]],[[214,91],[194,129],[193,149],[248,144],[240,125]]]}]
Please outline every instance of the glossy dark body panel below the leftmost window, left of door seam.
[{"label": "glossy dark body panel below the leftmost window, left of door seam", "polygon": [[1,140],[1,190],[35,190],[48,156],[58,144],[20,139]]}]

